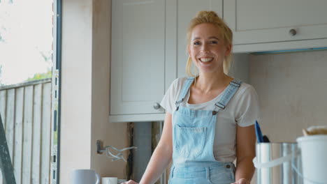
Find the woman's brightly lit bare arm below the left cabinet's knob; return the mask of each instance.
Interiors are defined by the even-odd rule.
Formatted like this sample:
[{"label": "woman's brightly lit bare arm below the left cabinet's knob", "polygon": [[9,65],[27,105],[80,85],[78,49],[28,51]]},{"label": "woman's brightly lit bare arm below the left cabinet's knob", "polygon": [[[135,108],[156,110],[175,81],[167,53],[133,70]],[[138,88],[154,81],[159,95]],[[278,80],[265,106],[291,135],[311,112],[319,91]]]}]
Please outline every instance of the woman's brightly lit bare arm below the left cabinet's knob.
[{"label": "woman's brightly lit bare arm below the left cabinet's knob", "polygon": [[[154,153],[151,156],[150,162],[147,164],[147,169],[142,176],[140,184],[150,184],[158,180],[163,173],[164,169],[170,163],[173,155],[173,142],[172,142],[172,116],[170,113],[166,113],[163,130],[160,141],[157,148],[154,149]],[[135,183],[129,181],[128,183]]]}]

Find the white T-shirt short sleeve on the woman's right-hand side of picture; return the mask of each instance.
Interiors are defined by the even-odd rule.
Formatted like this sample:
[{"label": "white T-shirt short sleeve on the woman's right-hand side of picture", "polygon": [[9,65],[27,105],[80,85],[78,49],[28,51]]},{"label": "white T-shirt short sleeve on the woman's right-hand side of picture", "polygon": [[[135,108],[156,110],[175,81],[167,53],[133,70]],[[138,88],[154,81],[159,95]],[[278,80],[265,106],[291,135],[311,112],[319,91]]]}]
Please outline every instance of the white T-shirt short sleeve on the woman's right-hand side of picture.
[{"label": "white T-shirt short sleeve on the woman's right-hand side of picture", "polygon": [[259,98],[253,86],[245,89],[235,110],[235,121],[241,127],[253,125],[256,121],[261,121]]}]

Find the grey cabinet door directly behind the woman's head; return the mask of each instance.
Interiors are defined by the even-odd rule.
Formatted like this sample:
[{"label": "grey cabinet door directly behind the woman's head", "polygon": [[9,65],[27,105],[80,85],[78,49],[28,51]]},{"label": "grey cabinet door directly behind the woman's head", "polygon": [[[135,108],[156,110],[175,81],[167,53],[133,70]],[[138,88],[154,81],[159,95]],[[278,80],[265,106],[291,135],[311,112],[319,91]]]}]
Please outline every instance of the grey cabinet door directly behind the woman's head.
[{"label": "grey cabinet door directly behind the woman's head", "polygon": [[186,76],[187,53],[187,27],[196,13],[201,10],[213,10],[222,18],[222,0],[177,0],[177,77]]}]

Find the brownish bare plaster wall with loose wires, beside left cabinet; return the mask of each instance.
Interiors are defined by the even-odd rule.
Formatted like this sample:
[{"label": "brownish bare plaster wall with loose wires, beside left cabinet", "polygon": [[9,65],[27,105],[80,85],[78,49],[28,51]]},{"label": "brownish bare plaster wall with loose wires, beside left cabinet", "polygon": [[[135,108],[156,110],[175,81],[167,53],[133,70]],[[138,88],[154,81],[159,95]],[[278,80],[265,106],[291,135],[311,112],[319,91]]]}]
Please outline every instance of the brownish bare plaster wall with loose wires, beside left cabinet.
[{"label": "brownish bare plaster wall with loose wires, beside left cabinet", "polygon": [[[110,105],[110,31],[111,1],[93,1],[92,29],[92,136],[91,168],[101,176],[126,178],[126,162],[112,162],[106,156],[96,153],[96,140],[103,140],[104,146],[129,147],[127,123],[109,123]],[[117,153],[113,151],[113,153]],[[124,158],[127,159],[124,152]]]}]

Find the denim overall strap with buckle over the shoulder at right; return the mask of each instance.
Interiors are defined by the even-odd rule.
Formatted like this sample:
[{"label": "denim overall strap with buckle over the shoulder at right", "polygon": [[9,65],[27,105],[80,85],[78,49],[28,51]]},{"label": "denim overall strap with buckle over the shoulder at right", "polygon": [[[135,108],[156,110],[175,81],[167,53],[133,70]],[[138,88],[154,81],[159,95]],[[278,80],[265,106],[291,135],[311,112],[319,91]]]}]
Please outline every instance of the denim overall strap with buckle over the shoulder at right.
[{"label": "denim overall strap with buckle over the shoulder at right", "polygon": [[241,83],[242,82],[240,81],[240,79],[233,79],[233,81],[230,82],[229,85],[227,86],[227,89],[224,92],[223,96],[220,98],[219,102],[215,103],[215,106],[219,107],[219,109],[225,109],[229,100],[231,100],[231,98],[233,98],[233,95],[236,93],[236,91],[238,91],[238,88],[240,87]]}]

